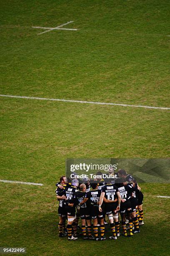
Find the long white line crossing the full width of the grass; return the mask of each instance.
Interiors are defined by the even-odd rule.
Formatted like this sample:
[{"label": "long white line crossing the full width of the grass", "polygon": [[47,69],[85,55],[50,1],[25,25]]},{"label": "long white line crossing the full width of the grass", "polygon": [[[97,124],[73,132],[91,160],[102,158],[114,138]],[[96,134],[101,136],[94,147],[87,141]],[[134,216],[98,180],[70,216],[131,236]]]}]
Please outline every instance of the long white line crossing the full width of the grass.
[{"label": "long white line crossing the full width of the grass", "polygon": [[82,100],[50,99],[50,98],[41,98],[41,97],[15,96],[15,95],[3,95],[3,94],[0,94],[0,97],[30,99],[30,100],[52,100],[52,101],[87,103],[87,104],[97,104],[97,105],[112,105],[112,106],[122,106],[122,107],[151,108],[151,109],[170,110],[170,108],[163,108],[163,107],[151,107],[151,106],[129,105],[129,104],[119,104],[119,103],[93,102],[93,101],[82,101]]}]

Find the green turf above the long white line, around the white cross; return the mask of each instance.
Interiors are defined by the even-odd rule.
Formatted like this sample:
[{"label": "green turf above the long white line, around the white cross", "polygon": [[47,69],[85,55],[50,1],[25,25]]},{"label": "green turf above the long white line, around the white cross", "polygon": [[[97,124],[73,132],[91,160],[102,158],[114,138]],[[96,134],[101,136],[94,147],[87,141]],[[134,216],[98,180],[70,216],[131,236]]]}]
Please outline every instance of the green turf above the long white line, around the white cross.
[{"label": "green turf above the long white line, around the white cross", "polygon": [[168,106],[168,0],[1,5],[3,94]]}]

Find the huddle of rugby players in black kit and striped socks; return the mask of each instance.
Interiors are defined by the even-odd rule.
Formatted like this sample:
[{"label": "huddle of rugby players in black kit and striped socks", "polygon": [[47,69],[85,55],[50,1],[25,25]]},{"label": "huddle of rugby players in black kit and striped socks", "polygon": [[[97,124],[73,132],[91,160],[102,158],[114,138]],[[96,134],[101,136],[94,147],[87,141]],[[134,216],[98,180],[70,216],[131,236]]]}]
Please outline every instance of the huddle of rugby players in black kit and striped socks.
[{"label": "huddle of rugby players in black kit and striped socks", "polygon": [[[109,170],[109,174],[115,177],[113,169]],[[68,236],[68,240],[76,240],[80,217],[83,239],[105,240],[107,216],[112,231],[112,236],[109,238],[116,240],[120,236],[119,214],[122,236],[139,233],[139,225],[144,224],[143,193],[135,179],[123,169],[118,170],[117,179],[104,180],[101,172],[97,172],[96,175],[97,179],[84,180],[84,182],[79,179],[68,182],[67,177],[62,176],[60,182],[56,184],[55,192],[59,200],[59,236]]]}]

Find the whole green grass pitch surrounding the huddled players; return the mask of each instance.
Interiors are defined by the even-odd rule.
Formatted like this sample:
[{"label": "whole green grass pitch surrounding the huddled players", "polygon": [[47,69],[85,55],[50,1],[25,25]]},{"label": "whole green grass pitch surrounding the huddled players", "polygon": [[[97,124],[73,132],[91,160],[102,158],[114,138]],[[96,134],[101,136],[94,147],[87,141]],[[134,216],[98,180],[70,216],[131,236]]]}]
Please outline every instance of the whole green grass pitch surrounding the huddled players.
[{"label": "whole green grass pitch surrounding the huddled players", "polygon": [[[170,107],[168,0],[0,2],[0,94]],[[31,26],[59,26],[50,31]],[[170,186],[140,184],[145,225],[132,239],[68,243],[55,182],[67,158],[169,157],[168,110],[0,97],[0,246],[28,255],[168,255]],[[110,234],[107,232],[107,237]]]}]

